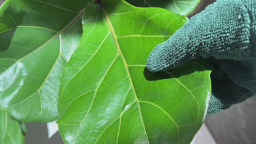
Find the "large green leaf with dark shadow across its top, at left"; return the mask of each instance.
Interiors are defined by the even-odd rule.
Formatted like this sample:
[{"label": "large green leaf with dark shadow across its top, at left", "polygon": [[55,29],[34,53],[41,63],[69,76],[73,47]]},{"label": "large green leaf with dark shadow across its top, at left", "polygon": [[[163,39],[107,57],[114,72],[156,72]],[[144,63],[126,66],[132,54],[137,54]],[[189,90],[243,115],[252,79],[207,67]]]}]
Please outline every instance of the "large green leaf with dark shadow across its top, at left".
[{"label": "large green leaf with dark shadow across its top, at left", "polygon": [[58,118],[60,81],[89,0],[9,0],[0,9],[0,109],[23,121]]}]

